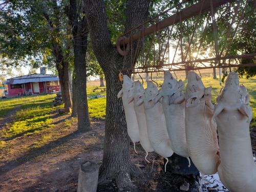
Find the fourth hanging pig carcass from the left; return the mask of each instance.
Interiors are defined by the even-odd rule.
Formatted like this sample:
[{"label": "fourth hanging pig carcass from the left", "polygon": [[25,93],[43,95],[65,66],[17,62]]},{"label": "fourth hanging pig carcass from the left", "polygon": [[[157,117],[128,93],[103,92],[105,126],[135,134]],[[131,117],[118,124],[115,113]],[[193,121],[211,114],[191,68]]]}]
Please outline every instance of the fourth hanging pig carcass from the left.
[{"label": "fourth hanging pig carcass from the left", "polygon": [[182,80],[177,81],[173,75],[164,72],[164,81],[159,94],[154,99],[158,102],[162,98],[163,112],[172,150],[174,153],[186,157],[190,166],[185,134],[185,98]]}]

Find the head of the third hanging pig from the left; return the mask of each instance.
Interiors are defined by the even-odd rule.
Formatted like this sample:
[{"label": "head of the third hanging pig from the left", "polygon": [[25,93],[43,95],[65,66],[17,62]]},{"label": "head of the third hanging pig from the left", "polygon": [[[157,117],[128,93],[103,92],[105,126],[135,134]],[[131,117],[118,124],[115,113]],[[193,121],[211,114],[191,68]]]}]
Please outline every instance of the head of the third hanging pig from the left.
[{"label": "head of the third hanging pig from the left", "polygon": [[152,108],[154,104],[154,99],[158,95],[158,89],[152,81],[147,81],[147,87],[144,94],[144,106],[145,109]]}]

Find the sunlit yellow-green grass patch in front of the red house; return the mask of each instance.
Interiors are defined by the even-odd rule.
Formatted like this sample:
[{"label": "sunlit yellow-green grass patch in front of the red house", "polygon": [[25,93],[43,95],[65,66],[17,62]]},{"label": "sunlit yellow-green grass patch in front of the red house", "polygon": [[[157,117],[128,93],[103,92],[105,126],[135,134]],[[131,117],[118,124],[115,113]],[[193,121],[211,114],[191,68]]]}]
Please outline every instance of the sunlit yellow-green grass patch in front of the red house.
[{"label": "sunlit yellow-green grass patch in front of the red house", "polygon": [[[29,135],[47,129],[52,126],[52,119],[49,114],[55,111],[52,108],[52,100],[55,95],[40,95],[33,97],[15,98],[7,101],[7,105],[15,103],[12,106],[21,105],[20,109],[12,116],[12,122],[9,123],[9,129],[2,130],[2,136],[17,137]],[[18,102],[18,99],[22,103]],[[13,109],[13,108],[10,108]]]}]

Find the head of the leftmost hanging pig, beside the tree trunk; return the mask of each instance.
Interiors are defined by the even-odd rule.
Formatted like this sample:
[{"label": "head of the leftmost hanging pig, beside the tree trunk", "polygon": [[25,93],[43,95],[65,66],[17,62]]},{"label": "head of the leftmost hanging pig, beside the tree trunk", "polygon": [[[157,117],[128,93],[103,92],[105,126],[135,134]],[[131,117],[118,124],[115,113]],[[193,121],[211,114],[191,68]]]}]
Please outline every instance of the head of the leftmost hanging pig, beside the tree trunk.
[{"label": "head of the leftmost hanging pig, beside the tree trunk", "polygon": [[127,75],[123,75],[122,89],[117,94],[117,97],[120,98],[123,96],[123,94],[126,94],[127,101],[130,103],[133,101],[133,92],[134,92],[134,87],[133,87],[132,79]]}]

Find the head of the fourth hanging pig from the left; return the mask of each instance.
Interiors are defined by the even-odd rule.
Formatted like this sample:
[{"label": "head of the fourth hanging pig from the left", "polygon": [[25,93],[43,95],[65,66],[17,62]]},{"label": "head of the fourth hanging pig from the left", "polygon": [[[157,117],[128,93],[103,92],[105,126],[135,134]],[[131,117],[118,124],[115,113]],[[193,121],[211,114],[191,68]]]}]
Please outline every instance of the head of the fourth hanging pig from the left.
[{"label": "head of the fourth hanging pig from the left", "polygon": [[168,97],[168,101],[163,100],[164,104],[173,104],[182,95],[183,88],[182,80],[177,81],[169,71],[164,72],[162,88],[154,99],[154,103],[157,103],[162,97]]}]

